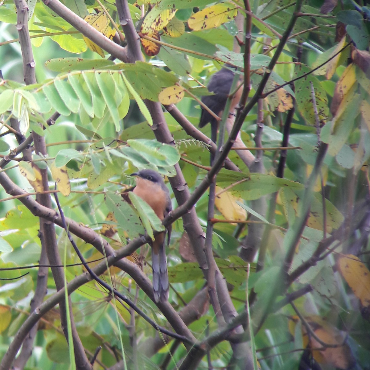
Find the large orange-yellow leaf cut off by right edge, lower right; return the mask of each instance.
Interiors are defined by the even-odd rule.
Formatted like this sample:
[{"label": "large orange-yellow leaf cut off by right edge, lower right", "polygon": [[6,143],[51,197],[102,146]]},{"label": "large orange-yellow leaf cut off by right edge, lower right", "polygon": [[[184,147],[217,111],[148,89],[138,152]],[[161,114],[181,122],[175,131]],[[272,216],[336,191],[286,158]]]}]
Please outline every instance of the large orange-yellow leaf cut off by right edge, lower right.
[{"label": "large orange-yellow leaf cut off by right edge, lower right", "polygon": [[363,307],[370,306],[370,271],[354,255],[345,255],[338,260],[338,269],[344,280],[360,299]]}]

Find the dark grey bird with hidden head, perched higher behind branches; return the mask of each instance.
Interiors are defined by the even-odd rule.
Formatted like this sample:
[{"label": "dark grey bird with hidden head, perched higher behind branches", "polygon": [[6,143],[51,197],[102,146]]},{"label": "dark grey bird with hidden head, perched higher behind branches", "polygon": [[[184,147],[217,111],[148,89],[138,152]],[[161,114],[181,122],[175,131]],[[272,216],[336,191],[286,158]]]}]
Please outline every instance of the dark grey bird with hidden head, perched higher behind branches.
[{"label": "dark grey bird with hidden head, perched higher behind branches", "polygon": [[[235,72],[228,68],[221,68],[218,72],[212,75],[211,80],[207,86],[208,91],[214,92],[214,95],[206,95],[202,97],[202,102],[219,117],[222,116],[223,110],[225,109],[226,101],[230,94],[231,85],[234,79]],[[241,88],[238,89],[233,97],[230,105],[230,111],[232,111],[236,104],[240,100],[242,94]],[[217,140],[218,121],[203,107],[201,120],[199,121],[199,127],[205,126],[208,122],[211,122],[211,139],[213,142]]]}]

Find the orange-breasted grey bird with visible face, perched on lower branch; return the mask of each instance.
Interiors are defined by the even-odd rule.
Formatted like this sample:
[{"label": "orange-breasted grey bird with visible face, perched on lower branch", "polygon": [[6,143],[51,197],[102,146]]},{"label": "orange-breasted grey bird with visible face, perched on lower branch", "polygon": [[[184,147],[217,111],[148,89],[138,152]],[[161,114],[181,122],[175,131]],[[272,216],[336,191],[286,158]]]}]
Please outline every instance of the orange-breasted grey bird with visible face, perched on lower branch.
[{"label": "orange-breasted grey bird with visible face, perched on lower branch", "polygon": [[[142,169],[131,174],[136,176],[136,186],[132,192],[153,208],[160,220],[163,220],[172,211],[171,198],[162,176],[152,169]],[[155,302],[165,302],[168,299],[169,284],[166,257],[167,245],[171,238],[171,226],[159,233],[150,243],[152,247],[153,293]]]}]

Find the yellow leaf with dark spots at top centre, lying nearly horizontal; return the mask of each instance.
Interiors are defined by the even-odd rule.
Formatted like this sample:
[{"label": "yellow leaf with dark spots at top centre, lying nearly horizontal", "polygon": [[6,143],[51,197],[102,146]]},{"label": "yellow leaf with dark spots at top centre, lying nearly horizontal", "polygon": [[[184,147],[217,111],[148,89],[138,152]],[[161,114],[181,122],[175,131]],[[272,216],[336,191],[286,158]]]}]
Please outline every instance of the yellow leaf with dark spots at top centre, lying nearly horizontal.
[{"label": "yellow leaf with dark spots at top centre, lying nearly horizontal", "polygon": [[234,4],[215,4],[193,14],[188,20],[188,26],[195,31],[208,30],[233,20],[237,14],[238,9]]}]

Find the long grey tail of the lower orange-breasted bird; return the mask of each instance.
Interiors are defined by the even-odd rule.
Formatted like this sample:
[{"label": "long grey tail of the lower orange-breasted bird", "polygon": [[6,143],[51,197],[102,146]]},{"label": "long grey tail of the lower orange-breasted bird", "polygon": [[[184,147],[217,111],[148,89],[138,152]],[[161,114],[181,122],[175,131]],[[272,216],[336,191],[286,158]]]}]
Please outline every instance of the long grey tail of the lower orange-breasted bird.
[{"label": "long grey tail of the lower orange-breasted bird", "polygon": [[163,242],[160,243],[160,245],[157,246],[153,245],[152,270],[153,270],[154,300],[155,302],[165,302],[168,299],[169,284],[168,284],[166,247],[164,240]]}]

